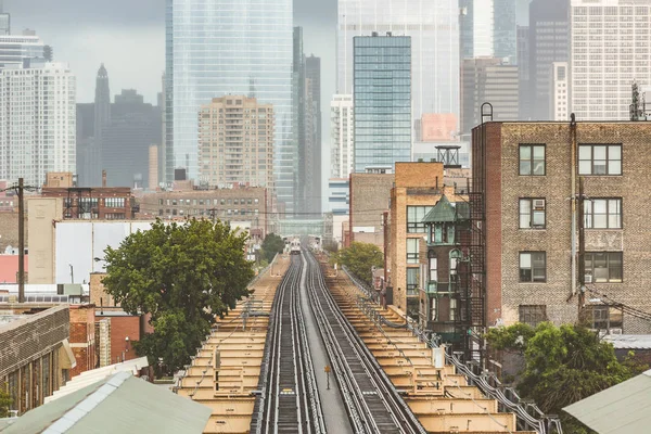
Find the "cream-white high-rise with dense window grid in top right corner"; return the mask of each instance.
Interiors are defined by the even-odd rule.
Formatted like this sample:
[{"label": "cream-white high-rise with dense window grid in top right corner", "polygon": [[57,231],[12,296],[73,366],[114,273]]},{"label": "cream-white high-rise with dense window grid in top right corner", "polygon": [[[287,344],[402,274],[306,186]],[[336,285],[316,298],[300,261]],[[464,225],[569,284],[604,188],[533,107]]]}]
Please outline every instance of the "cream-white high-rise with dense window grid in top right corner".
[{"label": "cream-white high-rise with dense window grid in top right corner", "polygon": [[578,120],[630,118],[631,85],[651,85],[651,0],[572,0],[571,110]]}]

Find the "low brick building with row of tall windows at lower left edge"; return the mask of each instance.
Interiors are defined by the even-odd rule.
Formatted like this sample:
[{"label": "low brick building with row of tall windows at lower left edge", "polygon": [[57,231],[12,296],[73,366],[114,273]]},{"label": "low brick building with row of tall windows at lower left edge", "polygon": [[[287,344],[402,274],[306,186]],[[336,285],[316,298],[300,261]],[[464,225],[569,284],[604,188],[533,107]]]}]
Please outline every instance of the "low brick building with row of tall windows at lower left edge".
[{"label": "low brick building with row of tall windows at lower left edge", "polygon": [[68,344],[67,305],[37,314],[18,311],[0,316],[0,383],[9,386],[10,408],[22,414],[65,384],[75,357]]}]

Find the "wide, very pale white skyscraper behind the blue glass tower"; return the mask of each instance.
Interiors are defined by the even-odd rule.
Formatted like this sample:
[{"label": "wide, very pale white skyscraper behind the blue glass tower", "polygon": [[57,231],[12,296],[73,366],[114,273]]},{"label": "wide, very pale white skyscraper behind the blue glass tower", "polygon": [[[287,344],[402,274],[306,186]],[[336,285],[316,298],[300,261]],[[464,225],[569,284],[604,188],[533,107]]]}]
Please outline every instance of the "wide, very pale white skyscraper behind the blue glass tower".
[{"label": "wide, very pale white skyscraper behind the blue glass tower", "polygon": [[339,0],[337,93],[353,93],[353,38],[392,33],[411,37],[413,112],[459,116],[458,0]]}]

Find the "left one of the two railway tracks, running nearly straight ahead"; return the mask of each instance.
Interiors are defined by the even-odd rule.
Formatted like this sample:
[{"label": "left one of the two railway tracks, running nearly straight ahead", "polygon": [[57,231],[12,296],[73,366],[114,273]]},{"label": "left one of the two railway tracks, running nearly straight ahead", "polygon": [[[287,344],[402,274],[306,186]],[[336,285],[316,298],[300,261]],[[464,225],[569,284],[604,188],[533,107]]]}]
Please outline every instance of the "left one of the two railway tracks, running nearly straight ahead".
[{"label": "left one of the two railway tracks, running nearly straight ahead", "polygon": [[273,302],[260,372],[261,394],[256,400],[252,433],[326,432],[301,309],[302,279],[305,279],[302,256],[293,255]]}]

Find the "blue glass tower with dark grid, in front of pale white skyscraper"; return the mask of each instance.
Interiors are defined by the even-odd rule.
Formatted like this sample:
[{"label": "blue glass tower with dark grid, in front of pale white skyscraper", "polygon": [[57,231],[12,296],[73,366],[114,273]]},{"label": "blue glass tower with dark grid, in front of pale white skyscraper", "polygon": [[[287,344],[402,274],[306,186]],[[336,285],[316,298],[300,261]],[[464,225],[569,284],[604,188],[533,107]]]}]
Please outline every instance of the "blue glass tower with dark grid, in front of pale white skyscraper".
[{"label": "blue glass tower with dark grid, in front of pale white skyscraper", "polygon": [[354,38],[355,171],[411,161],[411,38]]}]

